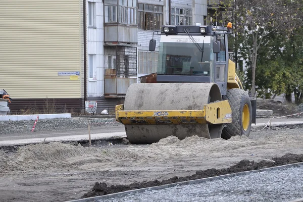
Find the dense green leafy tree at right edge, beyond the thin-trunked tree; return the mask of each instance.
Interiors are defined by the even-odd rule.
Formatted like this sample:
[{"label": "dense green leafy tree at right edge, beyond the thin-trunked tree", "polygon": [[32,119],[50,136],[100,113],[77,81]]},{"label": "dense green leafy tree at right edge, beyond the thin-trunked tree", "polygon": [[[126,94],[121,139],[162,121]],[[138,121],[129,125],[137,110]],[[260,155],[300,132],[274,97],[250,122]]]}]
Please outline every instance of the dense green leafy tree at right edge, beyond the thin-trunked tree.
[{"label": "dense green leafy tree at right edge, beyond the thin-trunked tree", "polygon": [[256,69],[257,91],[269,95],[286,93],[291,100],[295,93],[296,103],[303,98],[303,28],[295,29],[289,36],[281,32],[271,32],[264,37],[259,48]]}]

